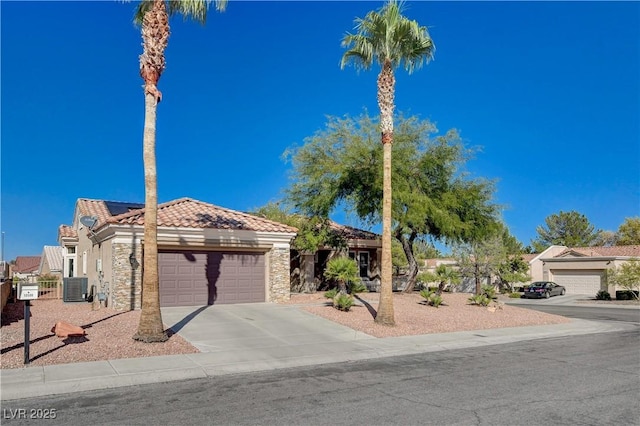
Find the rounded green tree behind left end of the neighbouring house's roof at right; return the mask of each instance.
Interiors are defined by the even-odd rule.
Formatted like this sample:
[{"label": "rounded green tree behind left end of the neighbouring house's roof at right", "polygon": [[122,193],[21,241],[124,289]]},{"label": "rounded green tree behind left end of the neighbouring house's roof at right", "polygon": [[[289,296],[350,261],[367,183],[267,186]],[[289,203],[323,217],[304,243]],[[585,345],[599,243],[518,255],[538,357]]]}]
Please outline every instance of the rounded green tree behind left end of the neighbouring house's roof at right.
[{"label": "rounded green tree behind left end of the neighbouring house's roof at right", "polygon": [[587,217],[576,211],[552,214],[545,219],[546,226],[538,226],[538,237],[531,241],[536,252],[540,253],[551,245],[567,247],[592,246],[598,231]]}]

